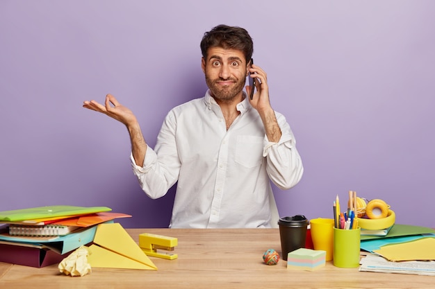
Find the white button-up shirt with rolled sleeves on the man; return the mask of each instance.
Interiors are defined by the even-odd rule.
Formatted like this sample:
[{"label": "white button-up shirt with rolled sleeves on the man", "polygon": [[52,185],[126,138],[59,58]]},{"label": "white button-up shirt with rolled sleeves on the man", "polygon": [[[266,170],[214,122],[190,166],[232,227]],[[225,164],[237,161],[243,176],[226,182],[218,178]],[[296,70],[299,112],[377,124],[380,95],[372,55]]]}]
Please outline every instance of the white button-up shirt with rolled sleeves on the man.
[{"label": "white button-up shirt with rolled sleeves on the man", "polygon": [[163,197],[178,181],[170,227],[271,227],[270,179],[281,189],[301,179],[302,160],[284,116],[275,112],[282,136],[272,143],[246,96],[237,110],[227,130],[207,91],[167,114],[143,167],[131,155],[133,173],[150,198]]}]

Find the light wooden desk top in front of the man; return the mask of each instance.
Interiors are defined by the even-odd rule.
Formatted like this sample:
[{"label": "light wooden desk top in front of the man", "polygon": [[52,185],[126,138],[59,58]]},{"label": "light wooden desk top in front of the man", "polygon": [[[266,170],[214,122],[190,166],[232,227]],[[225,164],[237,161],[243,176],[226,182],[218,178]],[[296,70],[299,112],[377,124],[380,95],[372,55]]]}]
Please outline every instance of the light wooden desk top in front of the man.
[{"label": "light wooden desk top in front of the man", "polygon": [[265,265],[263,252],[281,251],[277,229],[126,229],[138,242],[141,233],[178,238],[173,261],[150,257],[158,270],[92,268],[69,277],[57,265],[31,268],[0,262],[0,288],[435,288],[428,276],[359,272],[358,268],[287,270],[286,261]]}]

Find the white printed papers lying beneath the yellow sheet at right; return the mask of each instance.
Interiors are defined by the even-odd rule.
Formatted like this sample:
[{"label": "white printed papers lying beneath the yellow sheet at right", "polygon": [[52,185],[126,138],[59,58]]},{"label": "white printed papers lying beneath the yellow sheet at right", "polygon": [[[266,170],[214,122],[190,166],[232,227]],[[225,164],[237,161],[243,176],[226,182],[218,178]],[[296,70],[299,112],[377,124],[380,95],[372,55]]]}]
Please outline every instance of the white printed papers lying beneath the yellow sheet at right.
[{"label": "white printed papers lying beneath the yellow sheet at right", "polygon": [[359,271],[435,276],[435,261],[391,262],[381,256],[368,254],[361,259]]}]

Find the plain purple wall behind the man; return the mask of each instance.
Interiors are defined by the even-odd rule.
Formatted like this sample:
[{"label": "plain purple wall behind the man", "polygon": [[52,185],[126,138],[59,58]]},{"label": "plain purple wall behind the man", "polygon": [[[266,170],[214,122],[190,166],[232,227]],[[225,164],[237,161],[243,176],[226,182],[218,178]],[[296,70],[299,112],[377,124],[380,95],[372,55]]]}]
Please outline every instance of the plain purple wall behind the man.
[{"label": "plain purple wall behind the man", "polygon": [[147,198],[126,129],[81,105],[114,94],[154,146],[167,111],[204,95],[199,42],[223,23],[254,38],[304,161],[274,188],[281,216],[330,218],[354,190],[435,227],[435,1],[149,2],[0,1],[0,211],[108,206],[166,227],[174,190]]}]

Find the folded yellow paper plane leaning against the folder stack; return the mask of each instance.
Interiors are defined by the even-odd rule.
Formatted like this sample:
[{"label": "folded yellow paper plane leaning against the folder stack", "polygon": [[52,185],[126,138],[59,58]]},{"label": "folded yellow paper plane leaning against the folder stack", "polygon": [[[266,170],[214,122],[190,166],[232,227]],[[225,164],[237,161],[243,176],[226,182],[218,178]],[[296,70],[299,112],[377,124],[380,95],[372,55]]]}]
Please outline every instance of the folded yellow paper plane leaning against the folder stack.
[{"label": "folded yellow paper plane leaning against the folder stack", "polygon": [[98,225],[94,243],[89,249],[91,267],[157,270],[119,223]]}]

